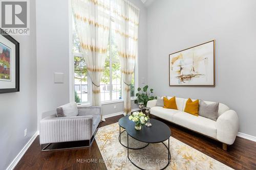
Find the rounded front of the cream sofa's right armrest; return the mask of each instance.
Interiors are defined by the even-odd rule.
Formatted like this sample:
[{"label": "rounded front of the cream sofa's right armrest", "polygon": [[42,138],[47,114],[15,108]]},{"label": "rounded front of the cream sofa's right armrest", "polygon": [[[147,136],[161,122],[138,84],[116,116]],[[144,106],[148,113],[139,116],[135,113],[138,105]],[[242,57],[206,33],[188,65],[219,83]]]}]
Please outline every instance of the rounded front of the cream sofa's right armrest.
[{"label": "rounded front of the cream sofa's right armrest", "polygon": [[233,110],[227,110],[219,116],[216,123],[217,139],[226,144],[233,144],[239,128],[238,115]]}]

